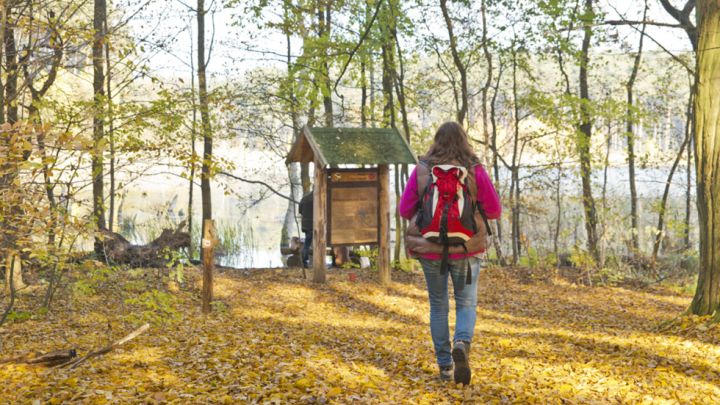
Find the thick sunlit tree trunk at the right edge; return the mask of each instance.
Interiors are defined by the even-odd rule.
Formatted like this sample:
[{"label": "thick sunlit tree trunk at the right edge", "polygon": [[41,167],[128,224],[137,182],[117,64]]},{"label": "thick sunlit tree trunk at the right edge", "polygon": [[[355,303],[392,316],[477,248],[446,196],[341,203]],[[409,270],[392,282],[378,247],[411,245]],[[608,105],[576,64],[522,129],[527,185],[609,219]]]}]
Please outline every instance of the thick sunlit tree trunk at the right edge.
[{"label": "thick sunlit tree trunk at the right edge", "polygon": [[700,228],[700,274],[690,311],[696,315],[720,311],[720,4],[698,0],[698,49],[695,98],[695,170],[698,227]]}]

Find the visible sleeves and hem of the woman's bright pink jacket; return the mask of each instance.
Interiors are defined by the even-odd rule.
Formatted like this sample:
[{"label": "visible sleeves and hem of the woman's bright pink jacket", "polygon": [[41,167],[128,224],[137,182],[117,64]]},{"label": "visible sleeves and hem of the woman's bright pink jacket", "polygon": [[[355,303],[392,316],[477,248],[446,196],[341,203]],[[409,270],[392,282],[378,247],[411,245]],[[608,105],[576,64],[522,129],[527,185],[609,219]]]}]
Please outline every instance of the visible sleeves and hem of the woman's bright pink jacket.
[{"label": "visible sleeves and hem of the woman's bright pink jacket", "polygon": [[[475,181],[478,186],[477,200],[482,204],[485,210],[487,219],[498,219],[502,214],[502,206],[500,205],[500,198],[495,191],[492,181],[487,172],[481,165],[475,166]],[[424,187],[424,186],[423,186]],[[417,184],[417,170],[413,169],[408,179],[407,186],[403,191],[403,195],[400,198],[400,216],[410,220],[415,212],[417,211],[418,203],[418,184]],[[481,252],[470,252],[469,256],[474,256]],[[420,255],[424,259],[429,260],[440,260],[441,255],[437,253],[427,253]],[[464,253],[454,253],[450,255],[451,260],[463,259],[466,255]]]}]

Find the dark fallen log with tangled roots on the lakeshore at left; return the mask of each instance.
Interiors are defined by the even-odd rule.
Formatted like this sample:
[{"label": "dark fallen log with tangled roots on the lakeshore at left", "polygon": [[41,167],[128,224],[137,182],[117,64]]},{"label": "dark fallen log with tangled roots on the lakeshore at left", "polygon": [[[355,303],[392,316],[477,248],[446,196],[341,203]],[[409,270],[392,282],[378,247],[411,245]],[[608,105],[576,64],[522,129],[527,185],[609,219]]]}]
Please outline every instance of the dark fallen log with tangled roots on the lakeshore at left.
[{"label": "dark fallen log with tangled roots on the lakeshore at left", "polygon": [[100,231],[105,256],[113,263],[131,267],[164,267],[168,253],[190,248],[190,234],[183,229],[183,221],[175,230],[164,229],[160,236],[147,245],[133,245],[122,235],[108,230]]}]

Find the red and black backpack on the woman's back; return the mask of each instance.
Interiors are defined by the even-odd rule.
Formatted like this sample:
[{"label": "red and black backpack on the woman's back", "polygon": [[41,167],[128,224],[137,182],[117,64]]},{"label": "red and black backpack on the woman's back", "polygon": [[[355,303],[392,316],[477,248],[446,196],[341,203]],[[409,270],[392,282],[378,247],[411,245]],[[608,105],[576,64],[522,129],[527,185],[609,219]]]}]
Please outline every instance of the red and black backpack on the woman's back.
[{"label": "red and black backpack on the woman's back", "polygon": [[[465,242],[472,237],[492,234],[487,216],[477,201],[475,167],[470,170],[453,164],[429,167],[427,162],[420,161],[416,170],[418,190],[421,190],[416,225],[424,238],[443,246],[440,272],[445,273],[450,246],[465,247]],[[472,283],[469,261],[466,283]]]}]

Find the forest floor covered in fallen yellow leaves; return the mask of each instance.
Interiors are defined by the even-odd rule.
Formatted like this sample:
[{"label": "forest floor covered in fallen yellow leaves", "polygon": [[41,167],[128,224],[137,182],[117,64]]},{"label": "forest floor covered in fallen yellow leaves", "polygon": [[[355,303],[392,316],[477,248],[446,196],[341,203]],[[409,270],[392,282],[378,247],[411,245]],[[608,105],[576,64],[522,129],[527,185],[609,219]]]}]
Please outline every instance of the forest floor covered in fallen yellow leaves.
[{"label": "forest floor covered in fallen yellow leaves", "polygon": [[96,266],[49,312],[30,312],[40,289],[24,292],[16,314],[27,315],[0,327],[0,357],[83,355],[150,329],[74,370],[0,364],[0,403],[720,402],[720,328],[675,319],[691,298],[678,288],[485,269],[462,387],[437,377],[419,273],[381,287],[361,271],[330,270],[326,285],[300,269],[224,272],[206,317],[195,269],[179,287],[158,270]]}]

